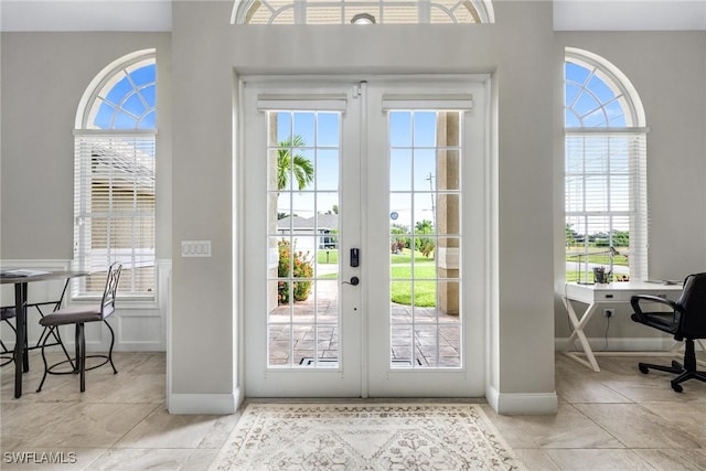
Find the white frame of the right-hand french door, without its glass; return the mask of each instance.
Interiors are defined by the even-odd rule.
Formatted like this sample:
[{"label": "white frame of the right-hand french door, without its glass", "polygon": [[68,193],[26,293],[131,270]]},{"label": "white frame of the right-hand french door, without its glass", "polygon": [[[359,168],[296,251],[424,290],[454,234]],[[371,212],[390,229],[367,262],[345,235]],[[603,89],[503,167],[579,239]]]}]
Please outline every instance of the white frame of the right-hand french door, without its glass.
[{"label": "white frame of the right-hand french door, without its glass", "polygon": [[[364,350],[371,358],[383,357],[379,362],[367,363],[367,394],[372,397],[482,397],[485,393],[485,325],[486,325],[486,279],[489,259],[488,240],[488,178],[486,149],[489,128],[489,87],[488,76],[426,76],[387,77],[384,81],[371,81],[367,87],[368,154],[374,149],[387,151],[386,116],[381,113],[381,104],[386,94],[420,97],[438,106],[458,95],[472,96],[473,106],[463,113],[463,164],[462,171],[462,366],[460,368],[392,368],[388,345],[373,342]],[[409,105],[403,105],[409,106]],[[373,109],[376,107],[376,109]],[[379,119],[379,120],[378,120]],[[385,130],[385,132],[382,132]],[[365,159],[364,159],[365,160]],[[364,180],[364,194],[378,200],[375,189],[387,188],[389,164],[387,159],[367,159],[367,178]],[[387,196],[386,194],[383,196]],[[375,269],[372,260],[389,257],[386,245],[375,244],[382,237],[388,238],[389,214],[385,205],[370,205],[368,214],[363,218],[363,234],[366,251],[371,260],[364,268],[367,282],[364,286],[364,307],[375,309],[365,300],[389,299],[388,270]],[[367,271],[366,271],[367,270]],[[364,308],[364,309],[365,309]],[[385,332],[389,336],[389,322],[383,322],[381,315],[370,312],[368,334]],[[383,356],[385,355],[385,356]]]}]

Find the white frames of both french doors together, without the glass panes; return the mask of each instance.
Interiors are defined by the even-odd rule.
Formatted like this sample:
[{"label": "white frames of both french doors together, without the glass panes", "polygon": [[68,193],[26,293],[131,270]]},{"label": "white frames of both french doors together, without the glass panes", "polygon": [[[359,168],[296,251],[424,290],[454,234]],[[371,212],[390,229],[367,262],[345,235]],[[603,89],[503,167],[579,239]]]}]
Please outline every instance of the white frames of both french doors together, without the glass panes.
[{"label": "white frames of both french doors together, without the glass panes", "polygon": [[[381,358],[381,362],[371,362],[371,358],[374,355],[381,354],[378,350],[388,349],[386,346],[376,346],[378,343],[374,342],[372,344],[370,342],[371,335],[375,335],[379,332],[381,324],[376,321],[371,321],[368,317],[371,300],[373,299],[382,299],[379,298],[379,288],[384,286],[388,286],[388,279],[383,278],[385,272],[383,270],[375,270],[374,259],[375,257],[379,257],[381,254],[374,249],[372,240],[381,237],[382,233],[379,233],[379,228],[383,226],[379,223],[381,217],[384,217],[384,231],[387,231],[387,208],[385,205],[370,205],[370,199],[372,197],[372,193],[375,193],[376,189],[379,189],[383,184],[386,188],[386,179],[388,179],[387,171],[387,159],[371,159],[368,156],[373,152],[373,149],[376,156],[381,156],[381,149],[386,151],[387,146],[385,142],[385,132],[382,132],[384,127],[379,126],[379,122],[376,122],[375,126],[372,126],[370,129],[366,126],[361,126],[360,136],[361,139],[359,142],[365,142],[362,144],[361,149],[352,149],[350,152],[360,153],[360,175],[365,175],[362,181],[362,188],[360,191],[360,201],[361,201],[361,229],[362,233],[359,233],[357,240],[355,240],[355,236],[351,239],[350,243],[346,243],[345,246],[342,246],[341,254],[347,254],[347,248],[357,246],[362,248],[362,263],[360,271],[346,271],[346,261],[342,261],[341,264],[341,277],[342,281],[347,280],[352,275],[360,272],[362,282],[361,286],[357,287],[361,298],[356,299],[347,303],[347,307],[344,306],[343,309],[351,309],[353,307],[356,308],[359,313],[359,320],[354,322],[352,329],[357,331],[361,336],[361,341],[356,344],[357,353],[351,354],[350,358],[356,358],[360,362],[360,378],[351,378],[349,372],[355,368],[344,367],[342,371],[338,372],[338,377],[340,381],[333,381],[333,384],[339,384],[339,386],[327,386],[325,388],[317,387],[311,388],[311,384],[321,384],[323,381],[322,377],[325,374],[331,375],[332,372],[322,372],[321,370],[290,370],[290,371],[278,371],[278,372],[260,372],[264,376],[271,375],[274,373],[280,382],[281,387],[278,388],[279,394],[265,394],[259,389],[250,390],[248,388],[248,384],[253,382],[252,376],[248,375],[248,364],[250,362],[246,362],[242,360],[239,362],[239,372],[240,372],[240,384],[245,386],[246,394],[253,395],[282,395],[282,396],[466,396],[466,397],[481,397],[484,396],[485,393],[485,375],[486,375],[486,322],[488,322],[488,306],[489,306],[489,275],[488,270],[490,269],[490,257],[489,257],[489,247],[490,247],[490,189],[489,189],[489,175],[490,175],[490,165],[488,158],[488,142],[489,142],[489,129],[490,129],[490,77],[489,76],[480,76],[480,75],[445,75],[445,76],[414,76],[414,77],[405,77],[405,76],[375,76],[375,77],[359,77],[359,76],[325,76],[325,77],[259,77],[259,76],[250,76],[250,77],[240,77],[239,81],[239,138],[246,137],[246,139],[256,138],[258,132],[265,133],[265,129],[258,131],[256,129],[257,125],[254,122],[248,122],[248,111],[244,109],[246,107],[252,107],[252,100],[247,99],[247,84],[257,84],[261,89],[270,89],[270,90],[288,90],[289,93],[301,93],[303,95],[312,95],[312,84],[315,84],[319,88],[318,93],[327,89],[331,92],[333,88],[335,89],[346,89],[346,96],[350,103],[356,100],[355,96],[359,93],[357,84],[363,82],[361,88],[364,90],[364,96],[366,97],[366,101],[360,101],[356,106],[360,105],[360,116],[355,119],[359,119],[361,122],[366,119],[368,113],[375,114],[379,110],[379,99],[382,94],[393,87],[397,93],[403,90],[407,90],[409,93],[424,93],[425,95],[434,95],[443,93],[443,90],[450,92],[459,92],[459,87],[463,88],[464,92],[468,92],[473,95],[473,113],[470,119],[467,121],[471,125],[467,126],[466,132],[466,142],[464,146],[469,146],[466,150],[467,160],[470,156],[472,161],[466,162],[463,164],[463,180],[464,180],[464,191],[463,191],[463,211],[464,211],[464,247],[462,249],[463,255],[463,267],[464,275],[463,279],[466,280],[463,285],[464,292],[464,312],[467,315],[467,328],[464,330],[464,339],[466,339],[466,354],[463,358],[463,367],[458,371],[424,371],[424,370],[415,370],[415,371],[400,371],[400,370],[391,370],[388,367],[387,355],[384,358]],[[365,84],[367,82],[367,84]],[[333,88],[331,88],[333,87]],[[367,88],[367,90],[365,90]],[[430,94],[430,89],[434,89],[434,93]],[[374,105],[377,103],[377,105]],[[373,109],[374,106],[377,106],[378,109]],[[370,107],[371,109],[366,109]],[[346,111],[346,114],[350,111]],[[381,113],[381,119],[383,114]],[[352,116],[349,116],[346,119],[351,119]],[[261,122],[260,122],[261,124]],[[260,138],[265,139],[263,135]],[[353,142],[350,144],[354,146]],[[381,147],[382,146],[382,147]],[[243,149],[243,146],[240,146]],[[349,153],[350,156],[350,153]],[[240,201],[246,200],[247,192],[247,182],[255,181],[255,179],[259,179],[263,176],[259,173],[253,174],[252,169],[248,169],[244,162],[243,151],[240,152],[239,158],[237,159],[236,165],[237,171],[240,175],[244,175],[247,171],[247,179],[240,176],[239,182],[239,191],[237,196]],[[353,174],[350,172],[351,169],[347,169],[347,172],[344,179],[350,179]],[[266,181],[263,176],[263,182]],[[356,184],[353,182],[352,184]],[[361,182],[357,182],[361,184]],[[372,192],[372,193],[371,193]],[[377,195],[378,196],[378,195]],[[252,197],[248,200],[252,201]],[[239,205],[243,208],[243,205]],[[384,213],[384,216],[381,214]],[[239,220],[237,222],[239,229],[242,233],[245,221],[247,217],[247,224],[254,224],[256,222],[253,221],[252,217],[244,215],[244,212],[239,212]],[[479,227],[482,226],[482,227]],[[263,227],[265,227],[263,225]],[[475,231],[474,231],[475,228]],[[385,238],[388,238],[388,234],[385,234]],[[240,237],[240,240],[247,240],[247,238]],[[360,244],[359,244],[360,243]],[[387,246],[387,244],[383,244],[383,246]],[[243,250],[240,249],[242,258],[240,260],[248,264],[248,253],[252,250]],[[261,255],[261,254],[260,254]],[[387,251],[385,253],[387,256]],[[249,263],[254,263],[254,258],[249,259]],[[243,274],[242,274],[243,275]],[[381,278],[381,276],[383,278]],[[244,296],[247,292],[252,292],[249,290],[249,286],[243,286],[247,281],[248,277],[239,276],[237,279],[244,280],[240,286],[236,287],[238,292],[238,299],[244,299]],[[341,286],[340,293],[343,295],[343,291],[349,290],[351,287]],[[247,309],[246,306],[239,306],[238,312],[245,312]],[[263,313],[265,317],[265,313]],[[240,345],[245,345],[246,335],[248,335],[248,325],[246,319],[239,319],[237,322],[239,327],[238,331],[238,342]],[[351,327],[349,327],[351,328]],[[242,357],[245,358],[245,351],[240,349]],[[253,352],[248,352],[248,354],[253,354]],[[384,367],[381,367],[384,365]],[[245,373],[244,373],[245,372]],[[447,381],[448,379],[448,381]],[[328,392],[322,393],[322,390],[327,389]]]}]

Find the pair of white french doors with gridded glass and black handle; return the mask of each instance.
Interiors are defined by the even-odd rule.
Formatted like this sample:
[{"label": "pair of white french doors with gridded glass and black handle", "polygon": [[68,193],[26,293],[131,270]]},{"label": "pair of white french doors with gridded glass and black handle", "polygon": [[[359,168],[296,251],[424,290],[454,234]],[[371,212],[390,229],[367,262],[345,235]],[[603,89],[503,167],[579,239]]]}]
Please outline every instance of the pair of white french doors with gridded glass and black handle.
[{"label": "pair of white french doors with gridded glass and black handle", "polygon": [[240,81],[246,395],[484,394],[485,87]]}]

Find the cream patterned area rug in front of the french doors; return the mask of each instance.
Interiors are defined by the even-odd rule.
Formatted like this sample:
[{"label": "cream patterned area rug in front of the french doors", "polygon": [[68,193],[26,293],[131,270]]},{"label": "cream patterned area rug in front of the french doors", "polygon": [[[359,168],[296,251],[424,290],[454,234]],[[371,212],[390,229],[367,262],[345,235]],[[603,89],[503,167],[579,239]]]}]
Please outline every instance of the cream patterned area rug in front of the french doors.
[{"label": "cream patterned area rug in front of the french doors", "polygon": [[477,404],[250,404],[212,470],[524,470]]}]

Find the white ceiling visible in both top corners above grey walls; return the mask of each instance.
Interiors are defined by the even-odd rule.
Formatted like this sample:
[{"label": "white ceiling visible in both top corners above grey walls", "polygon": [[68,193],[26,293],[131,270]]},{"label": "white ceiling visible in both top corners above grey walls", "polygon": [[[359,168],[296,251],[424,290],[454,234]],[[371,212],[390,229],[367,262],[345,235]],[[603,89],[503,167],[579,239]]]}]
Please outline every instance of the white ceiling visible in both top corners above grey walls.
[{"label": "white ceiling visible in both top corners above grey walls", "polygon": [[[0,0],[0,31],[171,31],[172,1]],[[554,0],[554,30],[703,31],[706,0]]]}]

